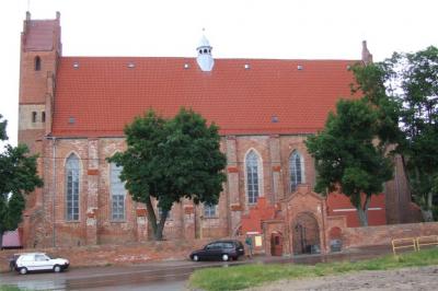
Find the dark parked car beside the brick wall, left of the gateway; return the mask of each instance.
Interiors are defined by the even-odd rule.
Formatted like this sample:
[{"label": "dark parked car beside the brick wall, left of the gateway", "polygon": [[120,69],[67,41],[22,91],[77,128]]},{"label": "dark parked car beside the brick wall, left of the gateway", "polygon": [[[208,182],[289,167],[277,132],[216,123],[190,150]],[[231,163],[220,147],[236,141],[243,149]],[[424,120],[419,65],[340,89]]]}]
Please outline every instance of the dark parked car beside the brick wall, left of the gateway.
[{"label": "dark parked car beside the brick wall, left of the gateway", "polygon": [[245,251],[241,242],[235,240],[227,240],[211,242],[208,245],[204,246],[204,248],[192,252],[189,257],[191,259],[196,261],[201,259],[230,260],[239,259],[239,257],[243,256],[244,254]]}]

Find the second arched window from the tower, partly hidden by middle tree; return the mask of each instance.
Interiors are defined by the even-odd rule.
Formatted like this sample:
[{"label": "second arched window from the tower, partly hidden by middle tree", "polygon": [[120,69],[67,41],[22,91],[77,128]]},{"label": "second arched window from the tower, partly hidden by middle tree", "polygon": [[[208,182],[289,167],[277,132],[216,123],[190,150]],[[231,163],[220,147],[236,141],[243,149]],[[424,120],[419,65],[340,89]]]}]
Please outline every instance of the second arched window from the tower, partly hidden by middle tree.
[{"label": "second arched window from the tower, partly hidden by middle tree", "polygon": [[120,181],[122,166],[111,163],[111,201],[112,219],[125,220],[125,184]]}]

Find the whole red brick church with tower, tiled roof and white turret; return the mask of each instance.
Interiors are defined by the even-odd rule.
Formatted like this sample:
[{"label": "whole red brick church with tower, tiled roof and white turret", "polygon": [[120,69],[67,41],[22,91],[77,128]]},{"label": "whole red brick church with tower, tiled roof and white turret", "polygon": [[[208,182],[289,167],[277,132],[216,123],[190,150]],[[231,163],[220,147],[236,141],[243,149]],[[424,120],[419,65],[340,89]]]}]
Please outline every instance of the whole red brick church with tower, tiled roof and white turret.
[{"label": "whole red brick church with tower, tiled roof and white turret", "polygon": [[[323,128],[339,97],[351,97],[349,66],[372,58],[365,42],[357,60],[215,59],[205,37],[186,58],[66,57],[60,14],[32,20],[28,12],[21,39],[19,141],[39,153],[44,178],[26,201],[25,246],[149,240],[146,207],[105,159],[126,148],[123,129],[135,116],[153,108],[170,117],[181,106],[220,127],[227,182],[217,206],[175,203],[166,240],[272,231],[293,241],[299,218],[319,237],[358,225],[343,195],[312,193],[314,161],[303,141]],[[372,199],[371,225],[408,217],[395,162],[395,179]]]}]

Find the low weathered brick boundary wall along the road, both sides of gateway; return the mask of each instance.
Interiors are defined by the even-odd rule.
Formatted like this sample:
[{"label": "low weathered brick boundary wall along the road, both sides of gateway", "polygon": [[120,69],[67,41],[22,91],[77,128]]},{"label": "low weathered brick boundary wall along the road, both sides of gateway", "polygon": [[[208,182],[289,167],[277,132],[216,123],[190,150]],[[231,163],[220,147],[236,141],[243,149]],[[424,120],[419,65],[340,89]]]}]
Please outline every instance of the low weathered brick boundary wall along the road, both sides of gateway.
[{"label": "low weathered brick boundary wall along the road, both sides of gateway", "polygon": [[[265,229],[265,253],[270,255],[270,234],[287,234],[284,221],[272,221]],[[397,225],[380,225],[368,228],[342,228],[341,238],[343,247],[365,247],[372,245],[388,245],[391,240],[417,237],[426,235],[436,235],[438,233],[438,223],[414,223]],[[244,236],[237,237],[244,242]],[[110,266],[142,264],[161,259],[187,259],[193,249],[200,248],[207,244],[210,238],[204,240],[178,240],[163,242],[145,242],[123,245],[92,245],[76,247],[37,247],[30,249],[5,249],[0,252],[0,272],[8,271],[8,258],[15,253],[22,252],[46,252],[55,257],[68,258],[71,267],[84,266]],[[74,256],[72,256],[74,249]],[[284,241],[284,253],[288,254],[289,244]]]}]

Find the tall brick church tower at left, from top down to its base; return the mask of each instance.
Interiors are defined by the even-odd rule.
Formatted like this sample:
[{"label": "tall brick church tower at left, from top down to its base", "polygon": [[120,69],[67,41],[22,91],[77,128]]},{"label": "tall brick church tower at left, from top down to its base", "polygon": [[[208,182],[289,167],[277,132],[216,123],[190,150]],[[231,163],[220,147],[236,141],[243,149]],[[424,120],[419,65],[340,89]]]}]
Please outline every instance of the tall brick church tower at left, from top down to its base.
[{"label": "tall brick church tower at left, from top down to its base", "polygon": [[[19,143],[44,156],[44,137],[51,132],[56,71],[62,54],[60,13],[56,13],[55,20],[32,20],[26,12],[20,53]],[[45,160],[37,160],[37,168],[46,184]],[[37,188],[26,198],[24,246],[36,246],[46,237],[48,228],[43,221],[49,209],[43,208],[43,188]]]}]

